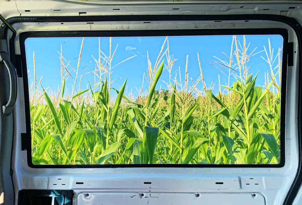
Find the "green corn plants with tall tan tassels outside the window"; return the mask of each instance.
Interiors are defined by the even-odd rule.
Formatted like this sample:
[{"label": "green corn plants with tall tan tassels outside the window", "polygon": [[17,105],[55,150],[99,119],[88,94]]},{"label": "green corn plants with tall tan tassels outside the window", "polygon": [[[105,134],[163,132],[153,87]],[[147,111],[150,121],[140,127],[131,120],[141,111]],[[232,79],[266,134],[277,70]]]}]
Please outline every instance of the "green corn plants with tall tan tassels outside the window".
[{"label": "green corn plants with tall tan tassels outside the window", "polygon": [[[127,79],[113,89],[112,59],[99,45],[94,59],[95,82],[80,90],[78,65],[72,66],[61,49],[61,86],[56,93],[34,81],[29,86],[33,164],[278,164],[280,162],[281,49],[272,55],[264,49],[267,62],[265,82],[255,85],[258,74],[249,74],[246,39],[239,46],[233,36],[227,61],[210,62],[228,77],[226,85],[207,86],[199,60],[200,77],[192,82],[187,66],[185,79],[172,75],[175,59],[165,39],[154,65],[148,57],[146,92],[125,94]],[[269,39],[268,39],[269,41]],[[164,46],[168,45],[167,49]],[[28,57],[27,57],[28,58]],[[131,57],[132,58],[132,57]],[[130,60],[130,58],[125,61]],[[123,61],[124,62],[124,61]],[[118,66],[122,66],[122,63]],[[276,66],[275,66],[276,64]],[[163,71],[169,71],[166,90],[156,89]],[[224,73],[223,73],[224,74]],[[236,76],[233,82],[231,76]],[[218,78],[219,76],[217,76]],[[70,93],[66,80],[73,80]],[[202,89],[197,89],[198,85]],[[215,94],[214,94],[215,93]]]}]

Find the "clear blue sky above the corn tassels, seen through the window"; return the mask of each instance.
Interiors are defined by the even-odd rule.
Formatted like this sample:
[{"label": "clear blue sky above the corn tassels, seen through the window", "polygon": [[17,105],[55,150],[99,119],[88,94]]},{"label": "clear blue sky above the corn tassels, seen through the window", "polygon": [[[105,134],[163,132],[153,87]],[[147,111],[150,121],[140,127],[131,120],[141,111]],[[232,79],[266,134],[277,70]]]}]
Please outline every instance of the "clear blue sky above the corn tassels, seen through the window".
[{"label": "clear blue sky above the corn tassels, seen through the window", "polygon": [[[280,35],[247,35],[246,43],[249,44],[248,53],[252,52],[256,47],[256,52],[262,51],[265,46],[268,50],[268,38],[271,42],[271,49],[274,49],[274,58],[277,55],[278,48],[282,47],[283,38]],[[199,53],[201,67],[203,69],[204,80],[207,86],[213,83],[215,84],[215,89],[218,89],[218,75],[220,75],[220,83],[225,85],[227,78],[215,68],[210,65],[210,61],[217,61],[216,56],[222,60],[229,62],[228,58],[222,53],[225,52],[230,55],[230,47],[232,43],[233,36],[169,36],[169,47],[170,55],[178,60],[174,63],[172,73],[180,69],[182,80],[185,78],[185,66],[186,57],[188,55],[188,74],[189,78],[195,81],[200,76],[200,69],[198,65],[197,53]],[[126,77],[127,80],[127,91],[131,92],[137,96],[137,89],[142,85],[143,74],[147,74],[147,51],[149,53],[149,58],[152,65],[154,66],[157,56],[160,52],[162,44],[165,40],[165,36],[159,37],[113,37],[112,38],[112,50],[118,44],[117,52],[114,56],[111,65],[116,65],[117,63],[136,55],[136,57],[118,65],[113,68],[111,79],[118,79],[114,82],[113,87],[119,89],[124,83]],[[237,36],[237,40],[243,46],[243,36]],[[87,63],[91,62],[87,67],[85,67],[79,75],[85,74],[89,71],[95,70],[95,62],[92,55],[98,58],[98,41],[97,37],[86,37],[84,41],[82,60],[80,63],[80,68],[85,66]],[[50,87],[52,91],[58,89],[58,85],[61,84],[61,77],[58,71],[60,68],[59,53],[62,45],[63,56],[70,64],[76,68],[79,58],[80,46],[82,43],[82,38],[29,38],[25,41],[26,47],[26,57],[27,57],[27,69],[30,70],[29,82],[34,80],[34,66],[33,66],[33,52],[35,52],[36,68],[37,68],[37,80],[43,76],[42,85],[44,88]],[[101,50],[105,55],[109,56],[109,37],[100,38]],[[165,45],[164,50],[167,48]],[[261,52],[250,58],[248,66],[251,66],[249,74],[256,74],[259,71],[256,84],[264,85],[264,73],[269,70],[268,63],[261,58],[261,55],[266,58],[265,52]],[[167,65],[166,58],[165,65]],[[277,65],[278,61],[275,62]],[[67,63],[66,63],[67,65]],[[221,68],[221,67],[220,67]],[[70,69],[70,68],[69,68]],[[226,74],[226,70],[223,70]],[[179,79],[179,72],[177,72]],[[279,78],[278,78],[279,79]],[[88,80],[94,82],[94,74],[90,73],[82,78],[81,89],[86,89]],[[159,80],[157,89],[166,89],[165,83],[162,81],[169,82],[168,71],[165,70]],[[231,82],[234,81],[232,78]],[[66,81],[66,86],[71,90],[73,85],[72,79]],[[145,80],[145,89],[147,86],[147,81]],[[202,89],[202,83],[198,85],[198,89]]]}]

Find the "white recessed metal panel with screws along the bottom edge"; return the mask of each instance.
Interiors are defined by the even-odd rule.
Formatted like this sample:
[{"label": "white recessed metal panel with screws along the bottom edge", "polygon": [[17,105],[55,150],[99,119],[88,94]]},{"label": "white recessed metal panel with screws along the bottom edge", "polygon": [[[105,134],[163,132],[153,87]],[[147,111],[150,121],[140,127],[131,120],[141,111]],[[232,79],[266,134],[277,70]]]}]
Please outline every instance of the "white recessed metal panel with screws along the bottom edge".
[{"label": "white recessed metal panel with screws along the bottom edge", "polygon": [[261,194],[203,194],[203,193],[81,193],[78,196],[78,205],[261,205],[265,198]]}]

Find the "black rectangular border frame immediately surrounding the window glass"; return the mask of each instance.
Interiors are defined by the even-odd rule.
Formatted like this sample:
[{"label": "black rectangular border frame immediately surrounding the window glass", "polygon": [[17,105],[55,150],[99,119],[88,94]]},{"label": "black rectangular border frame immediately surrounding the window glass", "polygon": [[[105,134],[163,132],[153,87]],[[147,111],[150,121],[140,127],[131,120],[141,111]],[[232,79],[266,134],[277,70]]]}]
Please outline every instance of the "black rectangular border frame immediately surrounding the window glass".
[{"label": "black rectangular border frame immediately surrounding the window glass", "polygon": [[[25,40],[37,37],[128,37],[128,36],[205,36],[205,35],[281,35],[283,53],[281,68],[281,116],[280,116],[280,163],[279,164],[104,164],[104,165],[35,165],[32,163],[31,121]],[[285,165],[285,106],[286,77],[288,67],[288,30],[284,28],[233,28],[233,29],[184,29],[184,30],[100,30],[100,31],[35,31],[19,35],[24,83],[26,133],[22,144],[27,150],[27,164],[31,168],[124,168],[124,167],[181,167],[181,168],[281,168]],[[290,46],[291,47],[291,46]],[[282,101],[282,99],[284,99]]]}]

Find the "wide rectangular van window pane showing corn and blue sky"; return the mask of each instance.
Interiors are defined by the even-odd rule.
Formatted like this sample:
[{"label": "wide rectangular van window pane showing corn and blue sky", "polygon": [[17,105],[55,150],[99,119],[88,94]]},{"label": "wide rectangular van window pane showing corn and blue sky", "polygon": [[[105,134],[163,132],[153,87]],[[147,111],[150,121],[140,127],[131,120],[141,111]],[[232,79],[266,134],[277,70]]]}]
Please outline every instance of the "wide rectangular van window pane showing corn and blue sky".
[{"label": "wide rectangular van window pane showing corn and blue sky", "polygon": [[284,36],[162,34],[27,37],[29,161],[280,165]]}]

